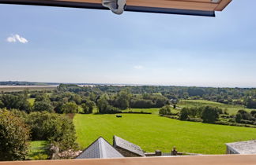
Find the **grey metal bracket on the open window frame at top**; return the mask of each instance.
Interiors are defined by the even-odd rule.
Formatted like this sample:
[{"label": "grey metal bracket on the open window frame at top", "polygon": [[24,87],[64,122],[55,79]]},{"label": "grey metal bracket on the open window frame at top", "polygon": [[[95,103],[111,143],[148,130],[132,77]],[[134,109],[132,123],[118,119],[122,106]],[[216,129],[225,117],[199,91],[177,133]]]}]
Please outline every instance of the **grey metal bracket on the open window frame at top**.
[{"label": "grey metal bracket on the open window frame at top", "polygon": [[115,14],[122,14],[126,8],[126,0],[102,0],[102,5]]}]

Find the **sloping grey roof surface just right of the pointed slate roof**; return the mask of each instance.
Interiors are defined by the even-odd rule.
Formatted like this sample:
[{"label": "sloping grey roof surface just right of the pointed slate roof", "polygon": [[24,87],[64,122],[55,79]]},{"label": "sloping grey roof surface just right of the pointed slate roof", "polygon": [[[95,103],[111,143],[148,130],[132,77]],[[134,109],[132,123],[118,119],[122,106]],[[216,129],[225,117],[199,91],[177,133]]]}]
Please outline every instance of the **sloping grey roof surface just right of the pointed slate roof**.
[{"label": "sloping grey roof surface just right of the pointed slate roof", "polygon": [[113,145],[119,148],[123,148],[128,152],[133,152],[134,154],[138,156],[145,156],[144,152],[142,151],[141,147],[138,145],[134,145],[130,141],[126,141],[122,138],[119,138],[117,136],[114,136],[113,138]]}]

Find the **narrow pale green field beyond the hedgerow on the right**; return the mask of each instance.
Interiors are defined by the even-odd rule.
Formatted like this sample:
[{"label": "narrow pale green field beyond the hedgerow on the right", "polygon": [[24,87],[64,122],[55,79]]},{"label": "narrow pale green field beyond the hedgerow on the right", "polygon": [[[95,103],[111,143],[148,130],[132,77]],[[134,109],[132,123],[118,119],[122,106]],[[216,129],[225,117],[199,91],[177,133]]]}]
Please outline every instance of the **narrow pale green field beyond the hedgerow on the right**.
[{"label": "narrow pale green field beyond the hedgerow on the right", "polygon": [[178,107],[183,108],[183,107],[195,107],[195,106],[214,106],[214,107],[219,107],[219,108],[227,108],[228,113],[230,114],[236,114],[240,109],[244,109],[248,112],[255,110],[255,109],[250,109],[250,108],[245,108],[243,105],[226,105],[214,101],[205,101],[205,100],[181,100],[178,103]]}]

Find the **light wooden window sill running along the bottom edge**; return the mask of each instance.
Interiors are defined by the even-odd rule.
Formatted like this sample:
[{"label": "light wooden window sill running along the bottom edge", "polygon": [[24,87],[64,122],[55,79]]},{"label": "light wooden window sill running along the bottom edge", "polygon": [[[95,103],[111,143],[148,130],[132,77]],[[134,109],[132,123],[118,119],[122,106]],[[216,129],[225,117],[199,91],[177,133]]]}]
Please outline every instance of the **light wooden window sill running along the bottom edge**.
[{"label": "light wooden window sill running along the bottom edge", "polygon": [[123,159],[62,159],[0,162],[0,165],[255,165],[256,155],[141,157]]}]

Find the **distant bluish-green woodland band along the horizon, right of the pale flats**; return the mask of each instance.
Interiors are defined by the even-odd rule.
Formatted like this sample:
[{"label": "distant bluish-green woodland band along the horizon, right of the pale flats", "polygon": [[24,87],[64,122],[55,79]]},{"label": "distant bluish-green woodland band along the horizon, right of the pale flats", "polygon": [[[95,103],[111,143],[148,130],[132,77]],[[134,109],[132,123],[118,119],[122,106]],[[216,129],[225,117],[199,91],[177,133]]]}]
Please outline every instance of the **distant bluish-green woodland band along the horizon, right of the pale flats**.
[{"label": "distant bluish-green woodland band along the horizon, right of the pale flats", "polygon": [[[170,100],[204,99],[231,105],[249,105],[256,108],[256,89],[254,88],[213,88],[186,86],[77,86],[61,84],[58,90],[78,93],[116,94],[121,90],[129,90],[131,94],[161,94]],[[250,98],[253,104],[248,104]]]}]

